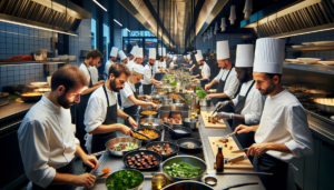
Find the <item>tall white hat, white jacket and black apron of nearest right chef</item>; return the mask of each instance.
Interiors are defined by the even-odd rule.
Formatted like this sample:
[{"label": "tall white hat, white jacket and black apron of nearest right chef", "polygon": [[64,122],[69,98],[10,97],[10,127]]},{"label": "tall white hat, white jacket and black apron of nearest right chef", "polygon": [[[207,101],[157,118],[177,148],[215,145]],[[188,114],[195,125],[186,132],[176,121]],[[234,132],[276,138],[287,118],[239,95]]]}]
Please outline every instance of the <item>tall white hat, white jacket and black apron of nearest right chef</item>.
[{"label": "tall white hat, white jacket and black apron of nearest right chef", "polygon": [[[284,60],[284,40],[262,38],[256,41],[254,72],[282,73]],[[265,101],[259,127],[255,132],[255,142],[284,143],[292,153],[267,151],[255,157],[254,170],[272,172],[273,176],[258,176],[266,189],[287,189],[294,181],[287,179],[288,161],[294,157],[313,153],[312,133],[306,112],[301,102],[286,90]]]}]

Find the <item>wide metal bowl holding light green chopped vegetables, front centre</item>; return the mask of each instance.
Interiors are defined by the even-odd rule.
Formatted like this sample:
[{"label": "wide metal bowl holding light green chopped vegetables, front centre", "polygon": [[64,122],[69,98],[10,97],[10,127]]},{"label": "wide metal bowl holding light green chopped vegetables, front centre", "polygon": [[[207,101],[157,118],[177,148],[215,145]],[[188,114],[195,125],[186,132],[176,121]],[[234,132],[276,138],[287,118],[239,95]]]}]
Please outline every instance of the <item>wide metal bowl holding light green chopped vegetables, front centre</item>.
[{"label": "wide metal bowl holding light green chopped vegetables, front centre", "polygon": [[[197,177],[194,177],[194,178],[176,178],[176,177],[169,176],[167,172],[165,172],[165,167],[171,166],[173,163],[178,163],[178,162],[181,162],[181,161],[186,162],[188,164],[191,164],[194,167],[199,167],[202,169],[203,173],[197,176]],[[193,157],[193,156],[175,156],[175,157],[169,158],[168,160],[166,160],[163,163],[163,173],[171,182],[180,181],[180,180],[200,181],[200,179],[205,176],[206,170],[207,170],[206,163],[202,159],[199,159],[197,157]]]}]

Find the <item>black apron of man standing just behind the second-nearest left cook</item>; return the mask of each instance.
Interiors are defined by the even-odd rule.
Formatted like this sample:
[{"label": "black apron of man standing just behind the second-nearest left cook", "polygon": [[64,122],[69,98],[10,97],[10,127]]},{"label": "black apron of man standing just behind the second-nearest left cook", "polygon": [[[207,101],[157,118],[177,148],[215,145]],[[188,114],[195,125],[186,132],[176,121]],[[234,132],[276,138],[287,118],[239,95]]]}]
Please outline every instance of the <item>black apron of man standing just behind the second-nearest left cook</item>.
[{"label": "black apron of man standing just behind the second-nearest left cook", "polygon": [[[86,66],[86,63],[85,63]],[[90,81],[89,81],[89,88],[92,87],[92,81],[91,81],[91,74],[89,72],[89,69],[88,67],[86,66],[87,68],[87,71],[90,76]],[[76,132],[76,137],[78,138],[78,140],[80,141],[80,147],[85,147],[85,136],[87,133],[87,131],[85,130],[85,124],[84,124],[84,120],[85,120],[85,111],[86,111],[86,108],[87,108],[87,103],[88,103],[88,100],[89,100],[89,97],[92,92],[90,93],[87,93],[87,94],[81,94],[80,96],[80,102],[77,103],[77,132]],[[87,150],[84,149],[85,152],[87,153]]]}]

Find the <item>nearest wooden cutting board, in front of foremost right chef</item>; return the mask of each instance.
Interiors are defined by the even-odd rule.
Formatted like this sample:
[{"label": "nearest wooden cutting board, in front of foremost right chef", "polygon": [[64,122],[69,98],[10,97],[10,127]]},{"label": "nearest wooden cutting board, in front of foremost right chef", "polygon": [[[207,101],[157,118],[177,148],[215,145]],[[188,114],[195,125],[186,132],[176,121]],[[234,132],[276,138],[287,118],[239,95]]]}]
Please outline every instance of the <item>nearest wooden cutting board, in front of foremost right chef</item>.
[{"label": "nearest wooden cutting board, in front of foremost right chef", "polygon": [[[208,137],[210,148],[213,150],[214,157],[216,158],[217,152],[218,152],[218,146],[223,147],[223,156],[225,159],[230,159],[235,158],[237,156],[244,156],[246,153],[232,153],[233,150],[239,150],[235,141],[233,140],[232,137],[228,138],[228,142],[223,143],[219,141],[222,137]],[[227,144],[227,148],[225,148],[225,144]],[[232,150],[229,148],[232,147]],[[249,159],[245,159],[243,161],[236,162],[236,163],[225,163],[225,168],[238,168],[238,169],[253,169],[253,166],[249,161]]]}]

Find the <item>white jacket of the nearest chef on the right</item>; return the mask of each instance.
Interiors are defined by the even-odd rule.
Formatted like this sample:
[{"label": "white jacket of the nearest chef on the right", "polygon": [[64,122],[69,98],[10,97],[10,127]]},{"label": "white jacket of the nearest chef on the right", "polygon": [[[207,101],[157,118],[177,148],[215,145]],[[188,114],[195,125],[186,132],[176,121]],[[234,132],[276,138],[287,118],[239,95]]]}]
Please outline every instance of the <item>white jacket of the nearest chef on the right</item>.
[{"label": "white jacket of the nearest chef on the right", "polygon": [[313,153],[306,112],[297,98],[286,90],[267,97],[254,138],[256,143],[284,143],[293,153],[267,152],[283,161]]}]

